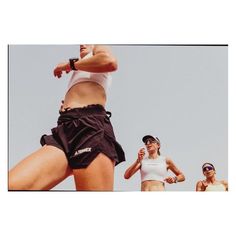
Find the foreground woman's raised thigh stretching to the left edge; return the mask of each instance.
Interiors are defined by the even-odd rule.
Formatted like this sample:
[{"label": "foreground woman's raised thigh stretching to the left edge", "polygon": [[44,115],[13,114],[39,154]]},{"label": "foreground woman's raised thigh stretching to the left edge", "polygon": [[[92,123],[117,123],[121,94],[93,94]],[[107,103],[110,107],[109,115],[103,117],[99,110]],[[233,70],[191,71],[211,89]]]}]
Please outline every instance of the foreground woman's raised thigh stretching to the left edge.
[{"label": "foreground woman's raised thigh stretching to the left edge", "polygon": [[64,152],[44,145],[9,171],[9,190],[49,190],[72,174]]}]

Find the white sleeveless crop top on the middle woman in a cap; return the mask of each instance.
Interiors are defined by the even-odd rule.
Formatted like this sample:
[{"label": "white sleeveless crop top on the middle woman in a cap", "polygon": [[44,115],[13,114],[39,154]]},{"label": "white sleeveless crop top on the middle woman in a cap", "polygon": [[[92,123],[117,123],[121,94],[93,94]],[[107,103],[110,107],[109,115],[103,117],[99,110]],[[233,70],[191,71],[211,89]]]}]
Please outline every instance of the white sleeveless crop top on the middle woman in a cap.
[{"label": "white sleeveless crop top on the middle woman in a cap", "polygon": [[158,156],[158,158],[144,158],[141,162],[141,181],[157,180],[164,182],[167,176],[166,158]]}]

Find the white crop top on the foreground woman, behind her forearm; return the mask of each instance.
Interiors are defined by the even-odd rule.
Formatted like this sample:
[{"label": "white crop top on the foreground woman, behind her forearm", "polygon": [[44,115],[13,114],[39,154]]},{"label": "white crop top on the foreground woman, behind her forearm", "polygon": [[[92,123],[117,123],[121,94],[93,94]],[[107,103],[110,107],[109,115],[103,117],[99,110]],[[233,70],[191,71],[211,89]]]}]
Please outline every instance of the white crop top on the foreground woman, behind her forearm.
[{"label": "white crop top on the foreground woman, behind her forearm", "polygon": [[[87,54],[84,58],[89,58],[92,57],[92,52]],[[82,70],[76,70],[74,71],[73,75],[70,78],[69,84],[68,84],[68,89],[67,91],[75,84],[85,82],[85,81],[90,81],[94,83],[98,83],[101,85],[105,92],[107,93],[108,88],[111,86],[111,80],[112,77],[110,73],[93,73],[93,72],[87,72],[87,71],[82,71]]]}]

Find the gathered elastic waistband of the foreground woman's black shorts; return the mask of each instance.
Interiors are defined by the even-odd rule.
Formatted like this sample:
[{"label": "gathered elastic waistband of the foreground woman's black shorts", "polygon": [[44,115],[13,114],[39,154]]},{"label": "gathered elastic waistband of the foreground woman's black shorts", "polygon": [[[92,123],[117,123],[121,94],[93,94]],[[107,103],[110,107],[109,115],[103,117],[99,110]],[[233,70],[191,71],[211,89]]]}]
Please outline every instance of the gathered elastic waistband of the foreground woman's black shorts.
[{"label": "gathered elastic waistband of the foreground woman's black shorts", "polygon": [[59,113],[60,116],[58,118],[58,123],[63,123],[93,114],[107,115],[111,117],[111,112],[106,111],[105,108],[100,104],[88,105],[86,107],[69,108],[65,109],[65,111],[60,111]]}]

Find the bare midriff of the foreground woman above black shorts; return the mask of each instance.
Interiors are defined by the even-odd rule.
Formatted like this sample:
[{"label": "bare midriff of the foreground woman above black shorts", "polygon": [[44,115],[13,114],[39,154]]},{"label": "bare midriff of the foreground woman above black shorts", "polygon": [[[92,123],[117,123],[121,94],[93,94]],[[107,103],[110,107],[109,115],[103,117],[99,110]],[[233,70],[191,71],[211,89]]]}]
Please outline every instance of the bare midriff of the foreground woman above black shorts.
[{"label": "bare midriff of the foreground woman above black shorts", "polygon": [[66,93],[62,110],[65,108],[85,107],[92,104],[100,104],[105,107],[105,90],[97,83],[81,82],[75,84]]}]

